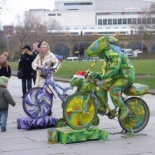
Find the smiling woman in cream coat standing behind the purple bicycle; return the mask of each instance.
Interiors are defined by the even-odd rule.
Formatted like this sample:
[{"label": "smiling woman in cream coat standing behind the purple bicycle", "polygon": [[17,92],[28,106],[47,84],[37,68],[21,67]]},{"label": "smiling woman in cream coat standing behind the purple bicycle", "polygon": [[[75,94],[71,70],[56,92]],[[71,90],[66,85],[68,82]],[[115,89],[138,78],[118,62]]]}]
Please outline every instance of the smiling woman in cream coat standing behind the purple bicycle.
[{"label": "smiling woman in cream coat standing behind the purple bicycle", "polygon": [[[55,71],[57,71],[60,67],[59,60],[55,57],[53,53],[50,52],[49,44],[43,41],[41,43],[40,53],[32,62],[32,67],[37,72],[35,87],[42,87],[44,85],[45,78],[41,77],[41,69],[44,68],[47,63],[48,67],[56,67],[57,69]],[[51,114],[52,112],[49,115]]]}]

